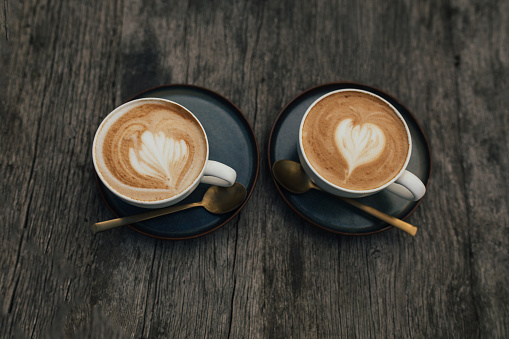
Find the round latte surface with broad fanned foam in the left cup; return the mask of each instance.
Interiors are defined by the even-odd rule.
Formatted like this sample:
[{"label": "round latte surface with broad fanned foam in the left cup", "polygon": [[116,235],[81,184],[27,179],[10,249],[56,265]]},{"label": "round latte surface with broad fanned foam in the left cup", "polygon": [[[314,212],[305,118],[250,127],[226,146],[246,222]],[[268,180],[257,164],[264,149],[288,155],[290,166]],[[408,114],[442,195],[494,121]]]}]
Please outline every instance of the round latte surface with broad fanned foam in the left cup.
[{"label": "round latte surface with broad fanned foam in the left cup", "polygon": [[118,193],[139,201],[183,192],[207,158],[201,125],[172,103],[145,101],[113,114],[102,124],[94,147],[103,179]]}]

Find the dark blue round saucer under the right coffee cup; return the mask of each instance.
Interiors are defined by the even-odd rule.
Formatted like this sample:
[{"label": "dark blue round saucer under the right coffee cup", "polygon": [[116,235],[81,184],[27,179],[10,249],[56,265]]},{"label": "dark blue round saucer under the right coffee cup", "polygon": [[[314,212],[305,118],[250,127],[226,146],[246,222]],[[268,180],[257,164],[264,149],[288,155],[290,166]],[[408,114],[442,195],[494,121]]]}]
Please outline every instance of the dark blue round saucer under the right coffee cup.
[{"label": "dark blue round saucer under the right coffee cup", "polygon": [[[427,187],[431,175],[431,152],[417,120],[407,108],[387,93],[351,82],[318,85],[299,94],[283,108],[270,133],[268,144],[270,168],[272,169],[274,163],[281,159],[299,161],[297,154],[299,126],[307,108],[322,95],[343,88],[372,91],[398,109],[407,122],[412,136],[412,156],[407,169],[417,175]],[[344,235],[368,235],[392,228],[385,222],[346,205],[332,195],[317,190],[293,194],[282,188],[274,177],[272,179],[286,203],[300,217],[322,229]],[[420,204],[420,201],[408,201],[387,191],[358,200],[399,219],[407,218]]]}]

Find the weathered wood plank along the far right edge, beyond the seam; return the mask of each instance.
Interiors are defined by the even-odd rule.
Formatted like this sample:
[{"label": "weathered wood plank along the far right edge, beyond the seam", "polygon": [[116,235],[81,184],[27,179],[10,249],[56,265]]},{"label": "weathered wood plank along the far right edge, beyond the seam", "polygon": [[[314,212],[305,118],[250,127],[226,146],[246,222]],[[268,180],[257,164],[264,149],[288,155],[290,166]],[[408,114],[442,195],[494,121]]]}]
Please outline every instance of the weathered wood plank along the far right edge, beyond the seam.
[{"label": "weathered wood plank along the far right edge, beyond the seam", "polygon": [[481,335],[501,338],[509,330],[509,3],[454,6],[470,283]]}]

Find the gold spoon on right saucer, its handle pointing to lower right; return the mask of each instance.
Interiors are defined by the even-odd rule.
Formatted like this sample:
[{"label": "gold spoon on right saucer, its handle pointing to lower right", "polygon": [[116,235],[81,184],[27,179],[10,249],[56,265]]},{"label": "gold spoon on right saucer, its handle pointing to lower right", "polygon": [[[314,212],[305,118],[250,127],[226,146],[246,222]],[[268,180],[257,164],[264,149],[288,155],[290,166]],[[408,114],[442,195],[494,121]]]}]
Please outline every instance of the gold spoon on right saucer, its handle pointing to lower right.
[{"label": "gold spoon on right saucer, its handle pointing to lower right", "polygon": [[[306,172],[302,169],[302,166],[295,161],[291,160],[279,160],[276,161],[274,166],[272,167],[272,173],[276,178],[277,182],[286,188],[288,191],[301,194],[309,191],[311,188],[323,191],[320,187],[316,186],[315,183],[311,181]],[[408,234],[415,236],[417,233],[417,227],[410,225],[403,220],[385,214],[373,207],[364,205],[363,203],[350,198],[338,197],[344,202],[357,207],[358,209],[377,217],[378,219],[385,221],[386,223],[399,228],[407,232]]]}]

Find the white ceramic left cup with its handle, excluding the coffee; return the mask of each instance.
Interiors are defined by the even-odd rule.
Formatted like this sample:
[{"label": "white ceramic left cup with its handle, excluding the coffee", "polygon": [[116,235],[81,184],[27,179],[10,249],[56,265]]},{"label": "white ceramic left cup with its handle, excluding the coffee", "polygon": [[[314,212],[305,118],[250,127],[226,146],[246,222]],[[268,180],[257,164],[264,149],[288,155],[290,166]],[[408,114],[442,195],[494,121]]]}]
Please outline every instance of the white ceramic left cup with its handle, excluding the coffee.
[{"label": "white ceramic left cup with its handle, excluding the coffee", "polygon": [[[206,146],[207,146],[206,161],[203,165],[203,168],[200,171],[200,174],[193,180],[192,184],[189,185],[181,193],[174,195],[170,198],[166,198],[166,199],[155,200],[155,201],[142,201],[142,200],[133,199],[131,197],[128,197],[124,194],[119,193],[108,183],[108,181],[101,174],[101,171],[99,170],[99,167],[97,164],[96,145],[97,145],[98,139],[101,135],[101,132],[105,133],[107,131],[107,129],[103,129],[102,127],[108,121],[110,121],[110,119],[118,118],[120,115],[127,113],[132,107],[134,107],[136,105],[139,105],[142,103],[152,103],[152,102],[161,102],[161,103],[165,103],[165,104],[170,103],[170,104],[179,106],[179,107],[183,108],[184,110],[186,110],[190,116],[194,117],[194,119],[196,120],[196,122],[198,123],[198,125],[200,126],[200,128],[203,132],[203,136],[205,137]],[[235,180],[237,178],[237,173],[230,166],[227,166],[227,165],[217,162],[217,161],[209,160],[209,140],[207,138],[207,133],[205,133],[205,129],[203,128],[203,126],[200,123],[200,121],[198,120],[198,118],[196,118],[196,116],[193,113],[191,113],[191,111],[189,111],[184,106],[182,106],[176,102],[166,100],[166,99],[161,99],[161,98],[143,98],[143,99],[136,99],[133,101],[129,101],[129,102],[117,107],[110,114],[108,114],[106,116],[106,118],[104,118],[104,120],[102,121],[101,125],[99,126],[99,128],[97,129],[97,132],[95,134],[94,142],[93,142],[93,146],[92,146],[92,158],[93,158],[94,168],[97,173],[97,176],[99,177],[99,179],[101,179],[104,186],[106,186],[106,188],[110,192],[112,192],[117,197],[119,197],[120,199],[122,199],[123,201],[125,201],[131,205],[138,206],[138,207],[144,207],[144,208],[161,208],[161,207],[167,207],[167,206],[174,205],[174,204],[178,203],[179,201],[183,200],[184,198],[186,198],[189,194],[191,194],[196,189],[196,187],[198,187],[198,185],[200,183],[229,187],[235,183]]]}]

